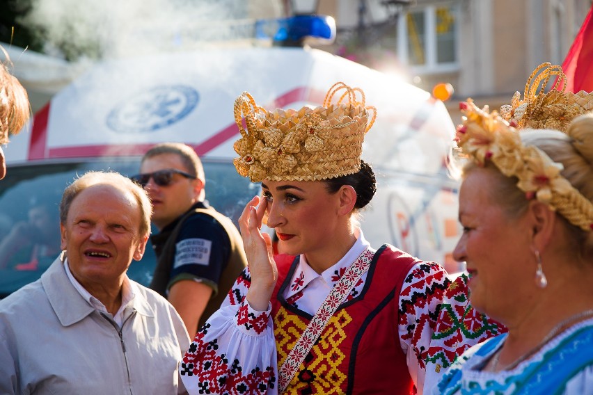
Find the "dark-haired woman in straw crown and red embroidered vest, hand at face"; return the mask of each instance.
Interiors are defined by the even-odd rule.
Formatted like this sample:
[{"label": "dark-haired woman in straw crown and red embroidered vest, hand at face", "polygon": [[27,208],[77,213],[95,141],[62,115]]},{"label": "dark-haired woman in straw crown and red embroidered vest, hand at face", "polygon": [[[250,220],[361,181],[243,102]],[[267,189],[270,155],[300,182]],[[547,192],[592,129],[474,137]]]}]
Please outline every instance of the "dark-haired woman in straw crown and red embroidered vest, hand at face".
[{"label": "dark-haired woman in straw crown and red embroidered vest, hand at face", "polygon": [[[374,117],[344,83],[314,109],[237,98],[235,166],[262,182],[263,198],[239,218],[248,268],[180,365],[190,394],[422,392],[449,280],[436,263],[373,248],[356,225],[375,191],[360,159]],[[274,257],[264,215],[287,255]]]}]

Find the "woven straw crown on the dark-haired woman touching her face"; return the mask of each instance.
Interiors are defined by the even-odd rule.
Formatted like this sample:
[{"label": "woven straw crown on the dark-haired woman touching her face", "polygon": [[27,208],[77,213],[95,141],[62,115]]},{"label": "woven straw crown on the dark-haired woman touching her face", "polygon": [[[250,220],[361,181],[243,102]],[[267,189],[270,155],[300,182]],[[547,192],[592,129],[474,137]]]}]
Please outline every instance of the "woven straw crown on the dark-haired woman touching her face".
[{"label": "woven straw crown on the dark-haired woman touching her face", "polygon": [[[338,100],[332,104],[335,97]],[[363,90],[342,82],[329,89],[323,106],[299,111],[267,111],[243,92],[235,100],[235,122],[241,132],[234,145],[239,154],[235,168],[252,182],[314,181],[352,174],[361,167],[363,140],[376,115],[374,107],[365,106]]]}]

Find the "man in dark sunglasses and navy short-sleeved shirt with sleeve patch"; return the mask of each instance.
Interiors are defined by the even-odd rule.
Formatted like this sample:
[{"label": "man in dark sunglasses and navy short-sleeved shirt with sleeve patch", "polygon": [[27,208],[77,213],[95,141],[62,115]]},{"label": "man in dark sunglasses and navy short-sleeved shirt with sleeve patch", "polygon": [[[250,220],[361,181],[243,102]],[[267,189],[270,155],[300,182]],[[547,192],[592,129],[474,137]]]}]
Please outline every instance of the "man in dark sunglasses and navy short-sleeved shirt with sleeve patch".
[{"label": "man in dark sunglasses and navy short-sleeved shirt with sleeve patch", "polygon": [[209,207],[202,163],[191,147],[161,143],[132,177],[152,200],[151,237],[157,268],[150,288],[168,298],[191,336],[218,309],[246,266],[243,242],[230,218]]}]

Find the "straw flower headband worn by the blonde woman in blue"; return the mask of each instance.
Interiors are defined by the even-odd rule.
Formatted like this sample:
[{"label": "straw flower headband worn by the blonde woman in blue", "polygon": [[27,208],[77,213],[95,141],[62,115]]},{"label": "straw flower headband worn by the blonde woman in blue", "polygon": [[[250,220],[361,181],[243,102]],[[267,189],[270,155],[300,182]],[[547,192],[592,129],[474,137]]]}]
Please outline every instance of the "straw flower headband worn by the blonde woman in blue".
[{"label": "straw flower headband worn by the blonde woman in blue", "polygon": [[537,198],[585,231],[593,229],[593,203],[562,177],[556,163],[533,145],[523,145],[518,129],[487,107],[477,108],[472,99],[459,104],[465,114],[457,127],[457,146],[480,166],[491,161],[503,175],[517,177],[527,198]]}]

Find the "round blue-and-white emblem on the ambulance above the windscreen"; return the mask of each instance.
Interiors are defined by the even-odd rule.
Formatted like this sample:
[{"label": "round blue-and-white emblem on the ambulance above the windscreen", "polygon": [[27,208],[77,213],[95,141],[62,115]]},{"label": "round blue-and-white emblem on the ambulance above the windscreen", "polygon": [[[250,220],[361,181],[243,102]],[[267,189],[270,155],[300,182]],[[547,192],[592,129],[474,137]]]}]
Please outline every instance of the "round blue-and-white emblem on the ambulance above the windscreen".
[{"label": "round blue-and-white emblem on the ambulance above the windscreen", "polygon": [[122,133],[161,129],[189,114],[198,98],[190,86],[153,87],[118,103],[107,115],[107,126]]}]

